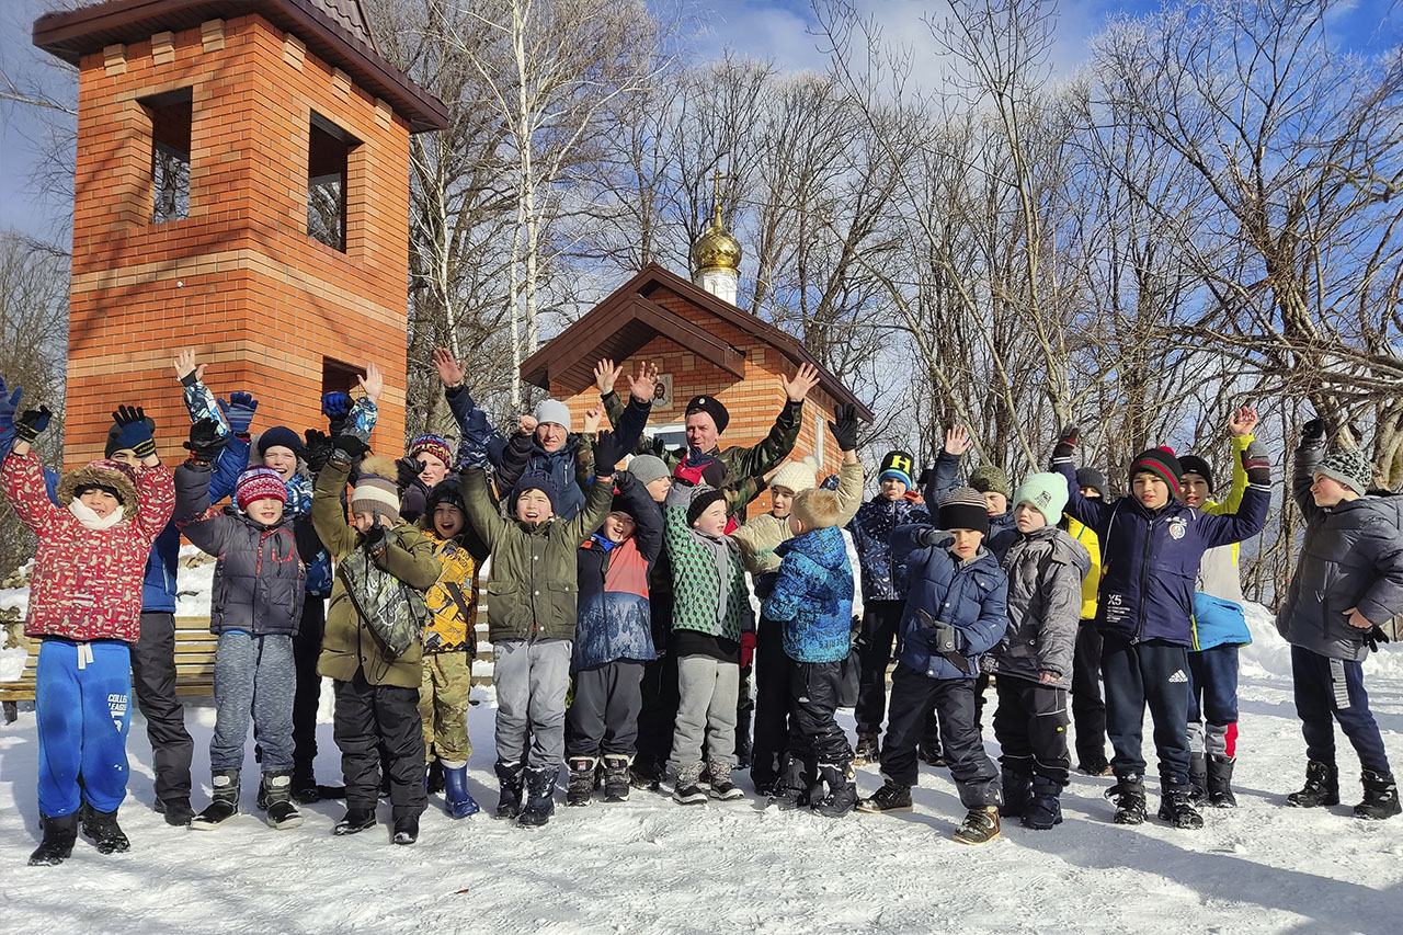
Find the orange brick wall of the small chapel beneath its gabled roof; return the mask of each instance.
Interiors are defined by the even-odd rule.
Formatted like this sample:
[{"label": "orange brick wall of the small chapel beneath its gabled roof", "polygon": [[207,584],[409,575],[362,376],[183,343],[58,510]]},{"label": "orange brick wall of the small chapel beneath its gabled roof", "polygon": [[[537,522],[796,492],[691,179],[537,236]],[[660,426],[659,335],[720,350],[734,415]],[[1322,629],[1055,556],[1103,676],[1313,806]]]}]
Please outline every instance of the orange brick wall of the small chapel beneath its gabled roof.
[{"label": "orange brick wall of the small chapel beneath its gabled roof", "polygon": [[[728,371],[665,337],[654,338],[629,361],[616,361],[624,366],[624,372],[631,372],[636,361],[651,361],[658,365],[659,373],[672,375],[672,404],[668,409],[654,407],[648,424],[662,425],[683,421],[683,409],[686,409],[687,402],[693,396],[706,393],[721,400],[727,411],[731,413],[731,423],[721,437],[723,448],[749,446],[765,438],[774,424],[774,417],[784,406],[784,387],[780,386],[779,375],[783,372],[786,376],[793,376],[797,368],[776,348],[756,341],[751,334],[672,292],[658,291],[648,298],[745,354],[745,378],[739,380]],[[620,380],[617,390],[620,394],[627,393],[623,380]],[[577,430],[584,424],[585,411],[599,402],[599,393],[592,386],[584,393],[570,396],[561,394],[565,390],[553,385],[551,393],[570,406]],[[822,473],[836,473],[842,455],[832,434],[828,432],[826,421],[832,417],[833,400],[822,389],[815,387],[804,403],[804,423],[790,458],[798,460],[814,455],[818,445],[815,432],[822,425],[825,432]],[[607,424],[607,418],[605,424]],[[749,514],[759,515],[769,508],[770,500],[766,493],[751,504]]]}]

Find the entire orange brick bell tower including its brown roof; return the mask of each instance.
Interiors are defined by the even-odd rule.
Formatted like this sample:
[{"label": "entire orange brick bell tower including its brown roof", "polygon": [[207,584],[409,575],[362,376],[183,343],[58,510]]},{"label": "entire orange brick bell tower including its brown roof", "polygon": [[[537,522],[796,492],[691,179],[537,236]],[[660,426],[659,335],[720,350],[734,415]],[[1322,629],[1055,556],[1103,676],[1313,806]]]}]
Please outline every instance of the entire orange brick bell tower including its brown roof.
[{"label": "entire orange brick bell tower including its brown roof", "polygon": [[41,17],[79,67],[69,462],[143,403],[168,462],[194,347],[257,427],[321,427],[320,396],[384,372],[404,432],[410,135],[448,111],[386,62],[359,0],[108,0]]}]

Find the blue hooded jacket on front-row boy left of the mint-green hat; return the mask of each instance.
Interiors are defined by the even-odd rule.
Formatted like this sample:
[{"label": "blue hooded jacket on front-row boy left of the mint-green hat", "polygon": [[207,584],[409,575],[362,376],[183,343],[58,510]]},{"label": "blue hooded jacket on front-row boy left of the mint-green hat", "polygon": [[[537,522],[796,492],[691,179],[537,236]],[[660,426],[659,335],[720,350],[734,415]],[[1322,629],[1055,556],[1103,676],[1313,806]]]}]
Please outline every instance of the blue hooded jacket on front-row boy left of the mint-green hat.
[{"label": "blue hooded jacket on front-row boy left of the mint-green hat", "polygon": [[[897,658],[930,678],[975,678],[979,656],[1003,639],[1009,626],[1009,578],[993,553],[981,548],[968,562],[950,552],[954,538],[925,526],[898,526],[891,533],[891,555],[906,566],[911,592],[897,635]],[[968,660],[969,674],[930,646],[934,636],[920,621],[925,611],[955,628],[955,646]]]}]

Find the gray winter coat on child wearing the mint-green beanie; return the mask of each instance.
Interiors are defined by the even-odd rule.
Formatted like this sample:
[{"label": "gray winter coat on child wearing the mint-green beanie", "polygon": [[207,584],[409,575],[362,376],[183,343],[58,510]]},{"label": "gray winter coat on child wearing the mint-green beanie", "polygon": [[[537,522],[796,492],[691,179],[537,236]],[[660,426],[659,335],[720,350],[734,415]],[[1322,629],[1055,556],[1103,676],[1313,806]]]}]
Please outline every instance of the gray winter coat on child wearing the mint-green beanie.
[{"label": "gray winter coat on child wearing the mint-green beanie", "polygon": [[1059,688],[1070,684],[1082,578],[1090,569],[1086,546],[1063,529],[1042,526],[1017,533],[1003,555],[1009,629],[985,657],[998,675],[1035,682],[1048,672]]}]

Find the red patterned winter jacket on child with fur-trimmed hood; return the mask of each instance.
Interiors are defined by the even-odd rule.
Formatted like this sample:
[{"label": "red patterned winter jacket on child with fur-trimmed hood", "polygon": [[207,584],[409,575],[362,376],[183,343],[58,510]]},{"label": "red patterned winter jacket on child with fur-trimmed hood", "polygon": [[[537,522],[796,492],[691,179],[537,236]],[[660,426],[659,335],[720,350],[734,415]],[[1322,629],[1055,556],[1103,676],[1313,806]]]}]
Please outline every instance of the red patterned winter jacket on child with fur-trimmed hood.
[{"label": "red patterned winter jacket on child with fur-trimmed hood", "polygon": [[142,580],[152,543],[175,505],[171,472],[136,468],[136,515],[111,529],[87,529],[49,501],[34,452],[10,453],[0,468],[6,497],[39,538],[25,636],[135,643],[142,630]]}]

